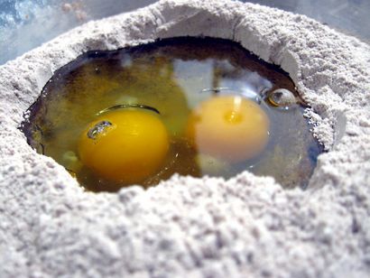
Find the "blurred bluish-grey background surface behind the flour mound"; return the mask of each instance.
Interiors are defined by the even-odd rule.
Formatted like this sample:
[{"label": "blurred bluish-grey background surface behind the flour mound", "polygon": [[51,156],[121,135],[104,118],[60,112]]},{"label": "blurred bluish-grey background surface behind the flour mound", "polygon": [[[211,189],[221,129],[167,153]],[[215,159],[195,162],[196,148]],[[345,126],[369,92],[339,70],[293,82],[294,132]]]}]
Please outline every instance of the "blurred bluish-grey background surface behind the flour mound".
[{"label": "blurred bluish-grey background surface behind the flour mound", "polygon": [[[156,1],[0,0],[0,65],[88,20],[132,11],[154,2]],[[341,32],[370,42],[369,0],[251,0],[249,2],[306,14]]]}]

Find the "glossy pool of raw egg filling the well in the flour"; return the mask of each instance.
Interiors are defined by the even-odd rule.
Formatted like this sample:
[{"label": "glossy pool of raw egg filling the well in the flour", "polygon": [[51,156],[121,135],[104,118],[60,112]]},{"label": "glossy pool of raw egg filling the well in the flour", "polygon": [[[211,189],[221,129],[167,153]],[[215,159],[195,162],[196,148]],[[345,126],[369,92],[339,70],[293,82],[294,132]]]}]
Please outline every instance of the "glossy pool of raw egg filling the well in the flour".
[{"label": "glossy pool of raw egg filling the well in the flour", "polygon": [[[93,51],[69,63],[57,71],[30,108],[23,132],[39,153],[54,158],[88,190],[115,191],[133,183],[147,187],[175,172],[229,178],[245,170],[273,176],[287,188],[304,188],[321,148],[310,134],[310,125],[303,117],[304,107],[297,96],[294,84],[282,70],[258,60],[235,42],[170,39],[119,51]],[[222,103],[231,98],[230,107],[212,107],[216,98]],[[240,103],[242,108],[236,107]],[[121,107],[109,109],[116,106]],[[255,121],[251,123],[249,112],[241,112],[250,111],[251,106],[260,114],[256,118],[265,115],[267,120],[258,125],[254,125]],[[226,118],[206,122],[207,118],[217,118],[216,112],[222,109],[228,113]],[[106,174],[112,171],[97,171],[97,162],[105,161],[103,168],[115,167],[110,163],[116,158],[106,159],[103,151],[99,154],[103,156],[97,156],[96,142],[86,151],[90,152],[85,156],[89,158],[81,159],[85,152],[81,151],[81,140],[85,142],[89,132],[97,130],[106,136],[110,125],[97,124],[104,122],[105,115],[124,115],[127,111],[140,111],[158,119],[167,133],[161,140],[168,140],[169,145],[167,150],[164,147],[167,144],[158,141],[166,150],[164,158],[155,156],[158,162],[148,171],[151,174],[143,177],[141,172],[136,181],[116,175],[113,179]],[[239,118],[242,120],[236,121]],[[234,137],[225,136],[230,134],[229,127],[234,122],[244,123],[242,126],[253,124],[254,129],[245,127],[244,134],[236,131]],[[140,125],[144,132],[151,128],[143,121]],[[92,130],[93,127],[96,129]],[[209,138],[201,134],[206,129]],[[197,130],[196,135],[190,130]],[[262,135],[250,139],[258,133]],[[241,136],[246,138],[239,140],[242,143],[233,141]],[[129,154],[140,156],[141,165],[147,165],[143,160],[152,157],[153,148],[157,149],[150,145],[152,136],[146,137],[149,146],[137,146],[137,151]],[[111,155],[115,155],[116,137],[106,142],[113,148]],[[134,139],[133,144],[136,143]],[[230,154],[232,149],[234,154]],[[122,157],[123,153],[119,155]]]}]

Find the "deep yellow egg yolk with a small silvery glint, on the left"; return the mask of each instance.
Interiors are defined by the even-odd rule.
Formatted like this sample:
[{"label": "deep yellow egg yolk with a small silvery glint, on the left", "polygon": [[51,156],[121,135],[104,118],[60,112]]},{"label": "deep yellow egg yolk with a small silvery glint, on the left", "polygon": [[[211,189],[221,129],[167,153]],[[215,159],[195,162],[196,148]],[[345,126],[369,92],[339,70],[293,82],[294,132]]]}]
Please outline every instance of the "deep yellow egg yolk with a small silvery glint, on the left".
[{"label": "deep yellow egg yolk with a small silvery glint, on the left", "polygon": [[159,116],[121,109],[97,117],[81,134],[79,158],[109,181],[137,183],[162,166],[169,137]]}]

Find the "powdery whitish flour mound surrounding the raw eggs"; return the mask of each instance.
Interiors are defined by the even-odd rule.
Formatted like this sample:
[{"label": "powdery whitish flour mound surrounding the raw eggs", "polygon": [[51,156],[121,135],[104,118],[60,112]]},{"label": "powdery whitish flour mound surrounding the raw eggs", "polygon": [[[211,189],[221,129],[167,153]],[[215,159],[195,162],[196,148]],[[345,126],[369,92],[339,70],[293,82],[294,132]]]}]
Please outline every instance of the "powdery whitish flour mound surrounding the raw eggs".
[{"label": "powdery whitish flour mound surrounding the raw eggs", "polygon": [[[311,104],[310,188],[244,172],[84,192],[17,129],[54,70],[88,50],[205,35],[288,71]],[[368,277],[370,47],[309,18],[226,1],[161,1],[90,22],[0,68],[1,277]]]}]

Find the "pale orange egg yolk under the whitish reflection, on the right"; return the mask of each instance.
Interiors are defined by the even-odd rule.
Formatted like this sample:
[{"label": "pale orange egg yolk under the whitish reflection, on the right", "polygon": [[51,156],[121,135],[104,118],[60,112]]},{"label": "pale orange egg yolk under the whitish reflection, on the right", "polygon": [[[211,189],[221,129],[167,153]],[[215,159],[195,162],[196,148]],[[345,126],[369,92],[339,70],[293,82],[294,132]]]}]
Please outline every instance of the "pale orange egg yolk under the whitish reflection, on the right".
[{"label": "pale orange egg yolk under the whitish reflection, on the right", "polygon": [[199,153],[242,162],[264,150],[270,121],[254,101],[217,96],[200,103],[189,117],[187,136]]}]

